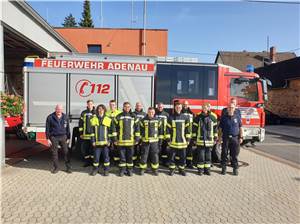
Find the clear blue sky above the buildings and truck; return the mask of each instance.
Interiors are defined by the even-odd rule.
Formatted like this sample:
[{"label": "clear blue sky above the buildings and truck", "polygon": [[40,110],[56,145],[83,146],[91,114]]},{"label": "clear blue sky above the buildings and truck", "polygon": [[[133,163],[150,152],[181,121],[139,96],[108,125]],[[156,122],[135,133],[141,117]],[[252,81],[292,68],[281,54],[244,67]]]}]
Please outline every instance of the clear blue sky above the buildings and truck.
[{"label": "clear blue sky above the buildings and truck", "polygon": [[[50,25],[72,13],[79,22],[83,1],[28,1]],[[274,1],[273,1],[274,2]],[[146,1],[146,28],[168,29],[168,55],[214,62],[218,51],[266,51],[300,55],[300,0]],[[143,28],[143,1],[91,1],[95,27]],[[133,10],[132,10],[133,9]],[[133,19],[132,19],[133,18]],[[269,38],[268,38],[269,37]]]}]

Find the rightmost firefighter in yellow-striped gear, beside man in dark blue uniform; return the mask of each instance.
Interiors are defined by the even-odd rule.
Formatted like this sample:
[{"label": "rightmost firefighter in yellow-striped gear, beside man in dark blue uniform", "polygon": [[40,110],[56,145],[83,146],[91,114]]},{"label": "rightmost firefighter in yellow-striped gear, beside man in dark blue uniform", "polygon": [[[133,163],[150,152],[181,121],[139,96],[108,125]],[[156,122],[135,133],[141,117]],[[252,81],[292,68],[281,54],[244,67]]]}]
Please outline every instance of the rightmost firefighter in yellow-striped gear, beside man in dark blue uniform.
[{"label": "rightmost firefighter in yellow-striped gear, beside man in dark blue uniform", "polygon": [[215,117],[209,112],[209,104],[202,106],[202,112],[198,114],[193,122],[193,140],[197,146],[197,168],[198,174],[210,175],[211,151],[218,137],[217,123]]}]

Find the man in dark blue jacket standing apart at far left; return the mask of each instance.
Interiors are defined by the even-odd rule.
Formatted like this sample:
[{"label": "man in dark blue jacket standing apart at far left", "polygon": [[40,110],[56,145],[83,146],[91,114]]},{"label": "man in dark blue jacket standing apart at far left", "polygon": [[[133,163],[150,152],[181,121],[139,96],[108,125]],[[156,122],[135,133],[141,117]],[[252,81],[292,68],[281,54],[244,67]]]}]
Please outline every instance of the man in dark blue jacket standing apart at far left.
[{"label": "man in dark blue jacket standing apart at far left", "polygon": [[47,117],[46,121],[46,137],[48,145],[51,148],[53,169],[51,173],[58,172],[58,147],[64,154],[66,172],[71,173],[70,158],[68,155],[68,144],[70,141],[70,126],[67,116],[63,113],[62,105],[56,105],[55,112]]}]

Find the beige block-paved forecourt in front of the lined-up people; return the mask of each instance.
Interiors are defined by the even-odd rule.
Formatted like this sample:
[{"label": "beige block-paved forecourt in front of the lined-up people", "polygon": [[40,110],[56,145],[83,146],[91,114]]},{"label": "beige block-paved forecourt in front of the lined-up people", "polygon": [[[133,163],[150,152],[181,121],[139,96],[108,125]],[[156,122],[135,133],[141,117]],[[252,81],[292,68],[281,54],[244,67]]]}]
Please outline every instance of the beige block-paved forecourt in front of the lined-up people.
[{"label": "beige block-paved forecourt in front of the lined-up people", "polygon": [[2,223],[300,223],[299,169],[248,150],[238,177],[53,175],[49,158],[2,170]]}]

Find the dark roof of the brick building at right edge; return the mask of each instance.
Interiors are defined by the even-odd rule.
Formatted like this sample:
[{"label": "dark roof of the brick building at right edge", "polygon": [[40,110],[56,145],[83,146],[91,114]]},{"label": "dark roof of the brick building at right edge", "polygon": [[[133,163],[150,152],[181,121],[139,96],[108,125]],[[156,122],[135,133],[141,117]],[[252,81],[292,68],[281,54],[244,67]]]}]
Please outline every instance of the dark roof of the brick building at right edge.
[{"label": "dark roof of the brick building at right edge", "polygon": [[283,88],[287,80],[300,78],[300,57],[260,67],[255,72],[271,80],[272,88]]}]

